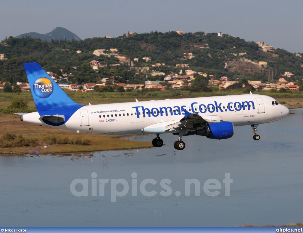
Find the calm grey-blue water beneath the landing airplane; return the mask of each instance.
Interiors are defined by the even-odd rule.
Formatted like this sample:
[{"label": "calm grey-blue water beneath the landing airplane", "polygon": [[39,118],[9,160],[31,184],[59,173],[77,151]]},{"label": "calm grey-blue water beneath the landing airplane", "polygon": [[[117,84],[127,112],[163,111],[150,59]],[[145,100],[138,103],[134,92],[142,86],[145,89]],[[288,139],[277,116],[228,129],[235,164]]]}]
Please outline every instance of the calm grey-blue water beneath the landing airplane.
[{"label": "calm grey-blue water beneath the landing airplane", "polygon": [[[161,135],[165,143],[161,148],[96,152],[92,158],[0,156],[0,225],[181,227],[303,222],[303,109],[291,112],[295,114],[259,125],[259,141],[253,140],[250,126],[243,126],[235,128],[231,139],[183,137],[186,148],[181,151],[173,147],[178,136]],[[154,137],[129,138],[151,141]],[[228,174],[230,196],[224,182]],[[74,195],[86,190],[79,183],[73,189],[75,179],[82,179],[84,185],[87,179],[87,196]],[[108,179],[104,196],[102,179]],[[196,186],[186,189],[186,179],[195,179]],[[209,182],[213,186],[208,188],[215,189],[204,189]]]}]

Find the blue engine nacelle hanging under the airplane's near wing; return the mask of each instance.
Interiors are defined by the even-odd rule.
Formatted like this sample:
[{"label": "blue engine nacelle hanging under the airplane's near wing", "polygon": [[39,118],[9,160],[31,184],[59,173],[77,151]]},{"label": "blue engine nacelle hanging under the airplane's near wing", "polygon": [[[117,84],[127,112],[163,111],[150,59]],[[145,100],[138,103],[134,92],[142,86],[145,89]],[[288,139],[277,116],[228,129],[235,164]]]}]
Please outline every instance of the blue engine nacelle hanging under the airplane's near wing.
[{"label": "blue engine nacelle hanging under the airplane's near wing", "polygon": [[208,124],[206,128],[196,130],[196,135],[206,136],[211,139],[227,139],[234,135],[235,127],[230,121]]}]

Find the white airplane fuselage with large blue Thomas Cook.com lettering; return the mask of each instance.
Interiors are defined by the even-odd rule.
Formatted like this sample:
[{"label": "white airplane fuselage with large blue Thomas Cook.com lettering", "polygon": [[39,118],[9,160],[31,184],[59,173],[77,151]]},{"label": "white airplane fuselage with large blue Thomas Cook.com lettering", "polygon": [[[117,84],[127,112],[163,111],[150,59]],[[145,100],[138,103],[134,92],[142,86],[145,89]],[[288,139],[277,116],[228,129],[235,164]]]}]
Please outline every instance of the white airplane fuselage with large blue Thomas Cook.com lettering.
[{"label": "white airplane fuselage with large blue Thomas Cook.com lettering", "polygon": [[272,97],[245,94],[87,105],[77,110],[61,126],[50,126],[39,120],[38,112],[23,115],[23,120],[82,133],[164,133],[143,129],[157,123],[163,122],[163,125],[169,125],[178,122],[185,115],[183,109],[190,113],[198,113],[208,123],[230,121],[235,126],[277,121],[285,118],[289,113],[287,107],[276,105]]}]

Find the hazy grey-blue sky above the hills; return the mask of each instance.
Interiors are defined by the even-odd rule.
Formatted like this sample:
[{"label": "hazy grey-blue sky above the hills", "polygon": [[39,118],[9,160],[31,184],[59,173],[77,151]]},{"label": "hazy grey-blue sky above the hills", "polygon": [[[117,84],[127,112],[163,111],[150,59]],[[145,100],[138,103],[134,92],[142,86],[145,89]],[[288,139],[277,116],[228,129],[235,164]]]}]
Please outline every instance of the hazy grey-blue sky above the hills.
[{"label": "hazy grey-blue sky above the hills", "polygon": [[0,40],[55,27],[81,39],[128,31],[204,31],[302,53],[302,11],[302,0],[0,0]]}]

